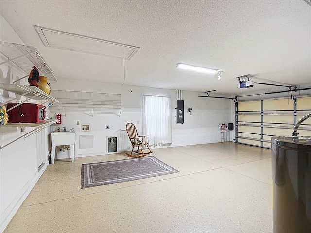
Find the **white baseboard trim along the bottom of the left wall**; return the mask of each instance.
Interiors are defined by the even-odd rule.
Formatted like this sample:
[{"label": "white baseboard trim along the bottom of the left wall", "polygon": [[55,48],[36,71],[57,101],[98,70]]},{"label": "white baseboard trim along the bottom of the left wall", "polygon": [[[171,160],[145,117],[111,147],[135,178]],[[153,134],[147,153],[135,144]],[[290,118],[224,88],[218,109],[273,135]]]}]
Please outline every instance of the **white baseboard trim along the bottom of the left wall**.
[{"label": "white baseboard trim along the bottom of the left wall", "polygon": [[45,163],[45,165],[41,168],[41,170],[37,173],[37,175],[27,182],[25,186],[20,190],[17,194],[16,198],[9,204],[6,210],[1,215],[1,227],[0,232],[3,233],[7,225],[10,223],[12,218],[17,213],[18,209],[21,207],[24,200],[28,197],[31,190],[34,188],[35,184],[38,182],[39,178],[42,176],[43,172],[47,169],[49,163]]}]

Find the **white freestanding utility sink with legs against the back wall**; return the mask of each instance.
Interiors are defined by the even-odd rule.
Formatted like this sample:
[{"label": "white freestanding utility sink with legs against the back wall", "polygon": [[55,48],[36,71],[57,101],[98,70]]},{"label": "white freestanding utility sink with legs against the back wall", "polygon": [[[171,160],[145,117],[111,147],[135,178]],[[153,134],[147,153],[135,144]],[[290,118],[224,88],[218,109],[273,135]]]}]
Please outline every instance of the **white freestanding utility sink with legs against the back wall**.
[{"label": "white freestanding utility sink with legs against the back wall", "polygon": [[51,144],[52,144],[52,164],[55,161],[57,150],[56,146],[70,145],[70,157],[71,162],[74,159],[74,134],[75,132],[63,131],[51,133]]}]

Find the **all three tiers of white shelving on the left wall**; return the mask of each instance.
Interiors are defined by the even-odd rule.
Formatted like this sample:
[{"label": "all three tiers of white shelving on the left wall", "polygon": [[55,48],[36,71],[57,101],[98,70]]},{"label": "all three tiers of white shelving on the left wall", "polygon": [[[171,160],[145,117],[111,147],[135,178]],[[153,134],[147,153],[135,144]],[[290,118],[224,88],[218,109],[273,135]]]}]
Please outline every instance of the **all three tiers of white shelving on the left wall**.
[{"label": "all three tiers of white shelving on the left wall", "polygon": [[[29,73],[33,69],[32,68],[33,66],[38,68],[40,75],[46,76],[48,78],[49,83],[57,82],[57,79],[55,78],[51,69],[49,68],[49,66],[44,61],[44,59],[42,58],[42,56],[40,55],[40,53],[35,47],[0,41],[0,53],[1,53],[1,58],[2,56],[6,58],[6,61],[1,62],[0,65],[3,65],[6,63],[9,63],[9,64],[11,63],[11,65],[15,64],[17,67],[23,70],[26,74],[24,77],[21,77],[17,80],[13,80],[13,83],[16,83],[17,81],[21,79],[29,77]],[[46,94],[44,91],[40,90],[39,88],[35,86],[0,83],[0,89],[15,93],[15,98],[12,98],[9,101],[1,103],[0,106],[5,105],[8,102],[17,100],[21,97],[24,97],[23,101],[20,101],[14,107],[7,109],[7,111],[13,108],[16,108],[17,106],[23,104],[24,102],[28,100],[45,100],[41,104],[45,104],[47,102],[54,104],[58,102],[58,100],[53,98],[51,95]],[[10,119],[9,119],[9,122],[10,122]],[[21,134],[15,138],[8,140],[7,142],[4,142],[4,144],[1,144],[0,142],[0,150],[22,137],[26,138],[34,133],[41,131],[47,126],[58,122],[58,120],[46,120],[44,122],[39,122],[39,123],[9,123],[9,122],[6,125],[1,125],[0,129],[5,129],[7,127],[21,127]],[[23,127],[32,127],[33,129],[26,131],[26,130],[22,130]],[[25,132],[25,133],[22,133],[22,132]]]}]

